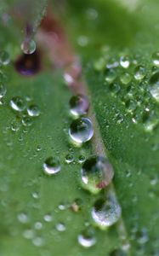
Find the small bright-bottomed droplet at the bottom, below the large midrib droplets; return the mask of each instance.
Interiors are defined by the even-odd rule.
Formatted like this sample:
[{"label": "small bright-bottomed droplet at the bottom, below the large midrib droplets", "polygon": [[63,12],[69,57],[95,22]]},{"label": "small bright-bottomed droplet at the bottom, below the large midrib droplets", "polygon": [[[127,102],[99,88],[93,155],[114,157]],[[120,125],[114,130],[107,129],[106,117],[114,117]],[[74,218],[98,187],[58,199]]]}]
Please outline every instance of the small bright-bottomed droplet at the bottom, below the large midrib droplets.
[{"label": "small bright-bottomed droplet at the bottom, below the large midrib droplets", "polygon": [[83,230],[82,233],[78,235],[77,240],[82,247],[93,247],[96,243],[94,230],[91,228]]}]

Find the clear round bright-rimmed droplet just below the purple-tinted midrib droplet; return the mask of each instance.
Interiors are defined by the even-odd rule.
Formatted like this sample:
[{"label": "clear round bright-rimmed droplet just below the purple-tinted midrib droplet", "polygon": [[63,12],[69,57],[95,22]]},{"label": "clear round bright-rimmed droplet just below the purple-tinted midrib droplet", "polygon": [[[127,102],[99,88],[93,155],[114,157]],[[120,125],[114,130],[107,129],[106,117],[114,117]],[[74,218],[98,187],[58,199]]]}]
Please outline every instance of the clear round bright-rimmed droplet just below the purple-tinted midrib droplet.
[{"label": "clear round bright-rimmed droplet just below the purple-tinted midrib droplet", "polygon": [[88,142],[94,135],[92,122],[88,118],[79,118],[71,123],[69,129],[71,139],[78,144]]}]

